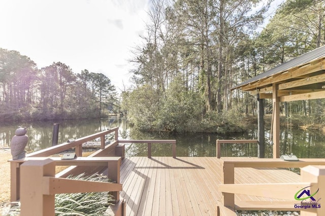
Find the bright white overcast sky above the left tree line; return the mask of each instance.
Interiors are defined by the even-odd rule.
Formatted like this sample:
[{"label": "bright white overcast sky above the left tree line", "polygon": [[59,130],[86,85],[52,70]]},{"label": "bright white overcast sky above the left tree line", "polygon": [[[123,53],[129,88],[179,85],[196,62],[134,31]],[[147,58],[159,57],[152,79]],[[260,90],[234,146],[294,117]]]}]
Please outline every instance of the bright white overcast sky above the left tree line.
[{"label": "bright white overcast sky above the left tree line", "polygon": [[[74,73],[129,85],[131,49],[140,42],[150,0],[0,0],[0,48],[28,56],[38,68],[62,62]],[[276,0],[276,5],[282,0]]]}]

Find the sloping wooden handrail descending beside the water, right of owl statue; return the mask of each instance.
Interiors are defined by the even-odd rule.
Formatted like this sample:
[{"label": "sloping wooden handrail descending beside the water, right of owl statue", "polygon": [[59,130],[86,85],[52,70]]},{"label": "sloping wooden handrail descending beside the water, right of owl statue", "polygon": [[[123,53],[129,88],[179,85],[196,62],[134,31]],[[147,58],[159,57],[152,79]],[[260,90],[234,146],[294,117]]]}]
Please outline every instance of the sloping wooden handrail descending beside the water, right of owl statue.
[{"label": "sloping wooden handrail descending beside the water, right of owl statue", "polygon": [[105,148],[105,135],[110,134],[115,132],[115,139],[117,137],[117,133],[118,133],[118,127],[114,127],[112,129],[109,129],[107,131],[103,131],[103,132],[99,132],[96,134],[92,134],[86,137],[82,137],[79,139],[76,139],[75,141],[71,142],[71,143],[62,143],[56,146],[52,146],[40,151],[36,151],[36,152],[32,152],[30,154],[27,154],[26,157],[47,157],[47,156],[51,156],[57,153],[60,153],[62,151],[66,151],[68,149],[74,148],[76,150],[76,155],[78,157],[82,156],[82,144],[91,140],[94,140],[96,138],[101,138],[101,149]]}]

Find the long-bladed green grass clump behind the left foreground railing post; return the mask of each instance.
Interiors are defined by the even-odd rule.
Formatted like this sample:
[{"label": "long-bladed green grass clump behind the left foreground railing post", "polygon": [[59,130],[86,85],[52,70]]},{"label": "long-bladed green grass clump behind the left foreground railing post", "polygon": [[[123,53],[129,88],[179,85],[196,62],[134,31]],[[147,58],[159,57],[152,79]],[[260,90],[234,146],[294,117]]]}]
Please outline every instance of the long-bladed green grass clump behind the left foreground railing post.
[{"label": "long-bladed green grass clump behind the left foreground railing post", "polygon": [[[106,176],[94,174],[85,176],[81,174],[75,177],[68,177],[74,180],[85,180],[93,182],[109,182]],[[107,207],[111,205],[114,197],[108,192],[90,192],[90,193],[73,193],[73,194],[56,194],[55,195],[55,215],[109,215],[105,213]],[[20,202],[11,208],[3,208],[4,216],[20,215]]]}]

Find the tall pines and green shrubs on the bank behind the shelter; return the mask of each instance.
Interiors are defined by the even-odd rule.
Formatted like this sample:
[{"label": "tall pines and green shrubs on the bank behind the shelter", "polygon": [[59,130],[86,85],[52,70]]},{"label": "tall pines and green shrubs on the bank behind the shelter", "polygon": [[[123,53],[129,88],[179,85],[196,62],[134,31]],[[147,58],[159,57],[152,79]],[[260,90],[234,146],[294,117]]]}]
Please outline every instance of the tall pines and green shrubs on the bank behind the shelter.
[{"label": "tall pines and green shrubs on the bank behind the shelter", "polygon": [[[152,1],[144,42],[131,60],[135,88],[123,92],[129,119],[151,130],[244,127],[241,116],[254,114],[256,98],[230,88],[325,42],[323,1],[287,0],[261,32],[270,2],[259,2]],[[322,112],[320,100],[291,105],[295,113]]]}]

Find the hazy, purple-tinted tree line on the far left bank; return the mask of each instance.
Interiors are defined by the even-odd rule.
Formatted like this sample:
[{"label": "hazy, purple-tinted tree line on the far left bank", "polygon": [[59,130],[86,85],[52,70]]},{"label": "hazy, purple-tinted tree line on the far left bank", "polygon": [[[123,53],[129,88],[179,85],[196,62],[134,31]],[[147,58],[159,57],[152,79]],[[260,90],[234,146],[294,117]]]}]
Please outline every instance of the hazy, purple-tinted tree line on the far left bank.
[{"label": "hazy, purple-tinted tree line on the far left bank", "polygon": [[0,119],[101,117],[116,104],[115,87],[102,73],[75,74],[61,62],[38,69],[27,56],[0,49]]}]

